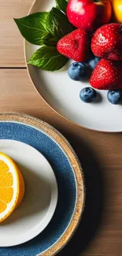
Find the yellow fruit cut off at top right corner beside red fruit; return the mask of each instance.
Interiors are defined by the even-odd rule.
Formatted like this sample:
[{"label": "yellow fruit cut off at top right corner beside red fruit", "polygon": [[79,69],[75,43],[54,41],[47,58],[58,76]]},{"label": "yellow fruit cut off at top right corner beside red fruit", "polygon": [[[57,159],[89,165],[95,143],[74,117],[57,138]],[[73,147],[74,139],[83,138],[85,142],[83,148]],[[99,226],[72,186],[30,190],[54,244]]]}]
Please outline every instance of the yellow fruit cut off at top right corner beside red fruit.
[{"label": "yellow fruit cut off at top right corner beside red fruit", "polygon": [[122,0],[111,0],[113,7],[113,18],[117,23],[122,24]]}]

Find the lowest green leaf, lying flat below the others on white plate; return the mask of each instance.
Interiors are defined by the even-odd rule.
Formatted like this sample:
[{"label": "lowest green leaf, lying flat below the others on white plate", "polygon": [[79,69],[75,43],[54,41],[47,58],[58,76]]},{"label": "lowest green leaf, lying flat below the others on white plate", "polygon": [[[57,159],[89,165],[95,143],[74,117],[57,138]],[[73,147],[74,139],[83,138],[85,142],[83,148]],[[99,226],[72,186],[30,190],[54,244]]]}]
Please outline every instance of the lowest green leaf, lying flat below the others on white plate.
[{"label": "lowest green leaf, lying flat below the others on white plate", "polygon": [[28,64],[35,65],[39,69],[56,71],[61,69],[67,61],[68,58],[59,54],[56,48],[43,46],[36,50]]}]

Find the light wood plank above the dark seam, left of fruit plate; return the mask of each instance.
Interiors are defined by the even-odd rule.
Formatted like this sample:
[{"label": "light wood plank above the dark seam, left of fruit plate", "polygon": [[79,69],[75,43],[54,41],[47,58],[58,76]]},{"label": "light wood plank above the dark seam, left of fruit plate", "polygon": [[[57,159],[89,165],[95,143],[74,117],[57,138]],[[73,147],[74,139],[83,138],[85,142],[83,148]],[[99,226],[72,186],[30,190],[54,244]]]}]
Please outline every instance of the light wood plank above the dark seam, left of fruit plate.
[{"label": "light wood plank above the dark seam, left of fruit plate", "polygon": [[13,18],[28,14],[33,0],[0,0],[0,67],[24,67],[23,38]]}]

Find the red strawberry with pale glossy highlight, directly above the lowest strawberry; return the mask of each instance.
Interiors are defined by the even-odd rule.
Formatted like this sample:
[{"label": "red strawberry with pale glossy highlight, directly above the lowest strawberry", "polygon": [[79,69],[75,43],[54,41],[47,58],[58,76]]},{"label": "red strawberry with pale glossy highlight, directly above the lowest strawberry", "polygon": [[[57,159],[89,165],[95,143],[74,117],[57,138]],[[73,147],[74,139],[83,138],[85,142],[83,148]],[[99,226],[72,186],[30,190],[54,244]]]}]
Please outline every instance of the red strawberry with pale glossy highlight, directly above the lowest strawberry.
[{"label": "red strawberry with pale glossy highlight, directly above the lowest strawberry", "polygon": [[112,23],[98,28],[91,40],[91,50],[100,58],[122,61],[122,25]]}]

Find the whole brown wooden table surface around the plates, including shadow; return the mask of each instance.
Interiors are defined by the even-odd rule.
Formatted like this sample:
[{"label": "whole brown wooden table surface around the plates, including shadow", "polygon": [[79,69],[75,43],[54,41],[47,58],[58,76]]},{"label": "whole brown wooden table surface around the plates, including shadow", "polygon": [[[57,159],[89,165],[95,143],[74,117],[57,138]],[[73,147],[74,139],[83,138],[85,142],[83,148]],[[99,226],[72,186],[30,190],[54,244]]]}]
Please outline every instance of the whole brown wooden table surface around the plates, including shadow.
[{"label": "whole brown wooden table surface around the plates, including shadow", "polygon": [[76,127],[39,97],[28,78],[23,39],[13,22],[13,17],[28,13],[31,3],[0,0],[0,111],[28,113],[52,124],[72,144],[82,163],[87,187],[83,219],[58,256],[121,256],[122,134]]}]

